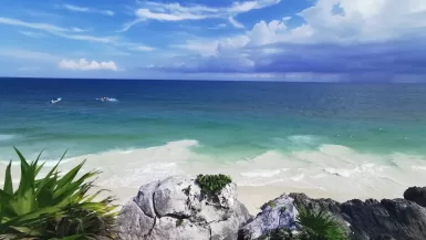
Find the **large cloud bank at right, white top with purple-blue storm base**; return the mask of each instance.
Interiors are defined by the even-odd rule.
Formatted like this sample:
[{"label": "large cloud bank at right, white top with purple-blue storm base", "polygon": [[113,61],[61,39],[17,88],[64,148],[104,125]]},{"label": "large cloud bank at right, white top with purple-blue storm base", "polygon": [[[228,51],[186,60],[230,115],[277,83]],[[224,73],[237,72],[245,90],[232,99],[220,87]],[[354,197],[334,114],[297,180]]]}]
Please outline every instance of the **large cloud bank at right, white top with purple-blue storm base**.
[{"label": "large cloud bank at right, white top with purple-blue storm base", "polygon": [[240,35],[173,45],[190,54],[155,67],[181,73],[426,74],[426,1],[318,0],[297,15],[304,22],[299,27],[289,27],[291,17],[283,17],[259,21]]}]

